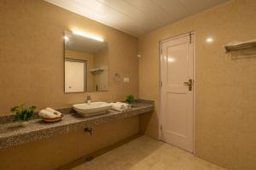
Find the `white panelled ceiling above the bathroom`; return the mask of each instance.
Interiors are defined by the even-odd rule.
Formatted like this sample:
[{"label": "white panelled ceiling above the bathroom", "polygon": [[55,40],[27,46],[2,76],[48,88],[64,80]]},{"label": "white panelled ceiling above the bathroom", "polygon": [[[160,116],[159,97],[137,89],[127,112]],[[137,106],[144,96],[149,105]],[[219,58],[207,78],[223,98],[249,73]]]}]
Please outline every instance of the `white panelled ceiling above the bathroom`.
[{"label": "white panelled ceiling above the bathroom", "polygon": [[229,0],[45,0],[139,37]]}]

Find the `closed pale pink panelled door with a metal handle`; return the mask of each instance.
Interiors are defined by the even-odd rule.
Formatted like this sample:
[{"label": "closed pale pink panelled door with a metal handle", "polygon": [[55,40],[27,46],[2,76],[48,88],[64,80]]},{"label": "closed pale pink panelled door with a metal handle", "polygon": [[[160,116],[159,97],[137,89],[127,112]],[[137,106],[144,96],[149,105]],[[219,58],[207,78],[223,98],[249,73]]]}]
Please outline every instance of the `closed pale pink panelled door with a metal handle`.
[{"label": "closed pale pink panelled door with a metal handle", "polygon": [[161,42],[161,139],[194,151],[193,34]]}]

